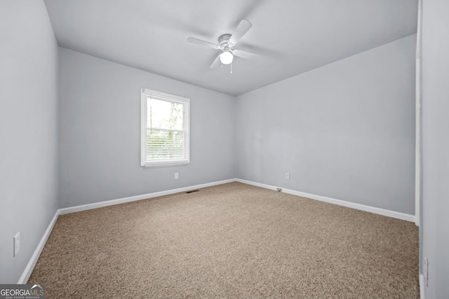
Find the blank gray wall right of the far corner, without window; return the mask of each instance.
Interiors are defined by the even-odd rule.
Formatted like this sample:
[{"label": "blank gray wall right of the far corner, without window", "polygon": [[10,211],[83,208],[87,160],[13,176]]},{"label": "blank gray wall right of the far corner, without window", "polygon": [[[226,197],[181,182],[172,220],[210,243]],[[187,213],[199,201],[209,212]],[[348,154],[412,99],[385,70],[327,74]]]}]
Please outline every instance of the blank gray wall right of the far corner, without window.
[{"label": "blank gray wall right of the far corner, without window", "polygon": [[415,39],[237,97],[236,176],[415,214]]}]

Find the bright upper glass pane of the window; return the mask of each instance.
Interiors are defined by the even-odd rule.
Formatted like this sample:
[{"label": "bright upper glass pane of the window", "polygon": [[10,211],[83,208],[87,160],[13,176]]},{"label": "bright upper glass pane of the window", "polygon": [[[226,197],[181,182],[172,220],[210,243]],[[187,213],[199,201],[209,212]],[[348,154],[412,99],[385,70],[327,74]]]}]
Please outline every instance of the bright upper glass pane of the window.
[{"label": "bright upper glass pane of the window", "polygon": [[183,109],[180,103],[151,99],[147,106],[147,127],[182,130]]}]

